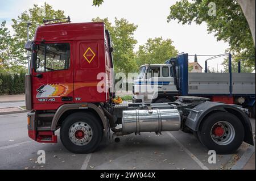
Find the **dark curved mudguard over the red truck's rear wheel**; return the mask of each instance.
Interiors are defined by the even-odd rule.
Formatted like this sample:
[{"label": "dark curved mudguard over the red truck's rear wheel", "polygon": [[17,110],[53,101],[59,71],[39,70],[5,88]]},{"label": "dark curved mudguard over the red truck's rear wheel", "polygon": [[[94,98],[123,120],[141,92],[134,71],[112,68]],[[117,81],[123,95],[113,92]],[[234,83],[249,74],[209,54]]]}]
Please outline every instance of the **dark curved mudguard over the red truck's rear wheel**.
[{"label": "dark curved mudguard over the red truck's rear wheel", "polygon": [[191,128],[193,131],[199,131],[201,122],[206,116],[209,116],[211,113],[215,113],[218,111],[233,113],[233,115],[237,116],[238,119],[241,120],[243,128],[245,129],[245,138],[243,141],[247,142],[247,144],[254,145],[251,122],[249,117],[243,110],[245,109],[237,105],[207,101],[197,105],[191,110],[185,121],[185,125]]}]

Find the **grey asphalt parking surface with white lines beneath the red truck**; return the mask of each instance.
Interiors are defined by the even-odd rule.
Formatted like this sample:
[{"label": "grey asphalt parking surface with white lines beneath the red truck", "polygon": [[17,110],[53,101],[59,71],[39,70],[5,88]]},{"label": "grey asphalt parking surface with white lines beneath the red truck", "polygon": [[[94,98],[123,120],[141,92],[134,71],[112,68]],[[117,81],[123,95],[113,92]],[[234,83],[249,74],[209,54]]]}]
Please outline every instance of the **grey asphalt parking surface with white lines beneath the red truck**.
[{"label": "grey asphalt parking surface with white lines beneath the red truck", "polygon": [[[251,123],[255,135],[255,119]],[[57,144],[30,140],[26,113],[1,115],[0,128],[0,169],[230,169],[253,148],[243,143],[236,154],[217,155],[209,164],[208,150],[192,134],[178,131],[130,134],[92,154],[73,154],[59,138]],[[39,150],[46,152],[44,164],[37,162]]]}]

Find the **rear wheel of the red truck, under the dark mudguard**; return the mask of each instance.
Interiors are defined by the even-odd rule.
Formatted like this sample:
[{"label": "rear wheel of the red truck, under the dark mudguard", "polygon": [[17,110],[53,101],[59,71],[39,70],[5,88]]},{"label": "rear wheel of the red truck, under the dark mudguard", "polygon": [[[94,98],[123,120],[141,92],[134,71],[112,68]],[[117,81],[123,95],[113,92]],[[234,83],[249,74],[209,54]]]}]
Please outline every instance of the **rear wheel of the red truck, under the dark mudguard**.
[{"label": "rear wheel of the red truck, under the dark mudguard", "polygon": [[217,112],[208,116],[197,132],[199,141],[217,154],[232,154],[242,144],[245,135],[243,125],[229,112]]}]

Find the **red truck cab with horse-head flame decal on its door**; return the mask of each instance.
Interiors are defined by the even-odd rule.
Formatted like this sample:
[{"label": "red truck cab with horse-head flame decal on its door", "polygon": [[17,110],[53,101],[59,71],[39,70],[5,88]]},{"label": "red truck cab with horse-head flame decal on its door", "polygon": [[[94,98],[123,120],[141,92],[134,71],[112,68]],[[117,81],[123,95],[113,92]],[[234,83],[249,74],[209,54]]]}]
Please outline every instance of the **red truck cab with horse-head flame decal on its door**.
[{"label": "red truck cab with horse-head flame decal on its door", "polygon": [[91,107],[99,112],[93,103],[114,98],[113,48],[104,23],[44,24],[26,47],[31,50],[25,82],[26,108],[31,110],[28,135],[33,140],[56,142],[54,132],[65,111]]}]

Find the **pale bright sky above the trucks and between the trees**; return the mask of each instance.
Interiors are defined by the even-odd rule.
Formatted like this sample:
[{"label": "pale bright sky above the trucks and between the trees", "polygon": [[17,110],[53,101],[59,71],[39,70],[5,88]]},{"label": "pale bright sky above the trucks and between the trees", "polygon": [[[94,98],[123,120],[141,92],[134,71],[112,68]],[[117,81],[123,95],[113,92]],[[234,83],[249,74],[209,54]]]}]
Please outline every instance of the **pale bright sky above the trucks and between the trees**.
[{"label": "pale bright sky above the trucks and between the trees", "polygon": [[[207,25],[179,24],[176,20],[167,23],[167,16],[170,14],[170,6],[176,1],[172,0],[104,0],[100,7],[92,6],[92,0],[0,0],[0,22],[6,20],[6,26],[11,30],[11,19],[18,16],[25,10],[32,8],[33,4],[43,5],[47,2],[55,10],[64,10],[65,15],[71,17],[73,23],[90,22],[93,18],[108,17],[114,23],[114,18],[125,18],[130,23],[138,25],[134,33],[139,45],[146,43],[148,38],[160,37],[171,39],[179,53],[188,54],[222,54],[229,48],[228,43],[217,41],[214,34],[208,34]],[[204,68],[204,61],[208,57],[197,57],[198,62]],[[189,57],[189,62],[193,56]],[[208,62],[210,68],[223,69],[221,62],[223,57]]]}]

